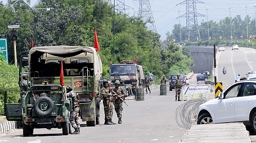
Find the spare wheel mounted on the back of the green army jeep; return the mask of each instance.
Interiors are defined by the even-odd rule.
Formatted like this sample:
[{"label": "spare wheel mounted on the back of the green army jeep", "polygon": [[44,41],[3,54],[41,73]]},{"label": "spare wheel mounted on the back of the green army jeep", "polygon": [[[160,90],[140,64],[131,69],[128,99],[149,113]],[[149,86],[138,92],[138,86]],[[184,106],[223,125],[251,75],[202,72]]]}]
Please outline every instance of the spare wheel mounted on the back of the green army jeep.
[{"label": "spare wheel mounted on the back of the green army jeep", "polygon": [[39,117],[48,117],[54,109],[54,103],[49,97],[38,98],[34,103],[34,111]]}]

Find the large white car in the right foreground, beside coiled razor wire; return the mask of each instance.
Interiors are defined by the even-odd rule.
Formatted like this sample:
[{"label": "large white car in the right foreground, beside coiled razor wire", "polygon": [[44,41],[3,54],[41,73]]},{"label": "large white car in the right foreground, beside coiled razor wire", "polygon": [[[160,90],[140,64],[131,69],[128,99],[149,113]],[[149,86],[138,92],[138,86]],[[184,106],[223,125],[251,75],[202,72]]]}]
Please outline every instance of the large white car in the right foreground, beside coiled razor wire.
[{"label": "large white car in the right foreground, beside coiled razor wire", "polygon": [[255,80],[232,84],[216,99],[198,107],[197,124],[243,122],[256,133],[255,87]]}]

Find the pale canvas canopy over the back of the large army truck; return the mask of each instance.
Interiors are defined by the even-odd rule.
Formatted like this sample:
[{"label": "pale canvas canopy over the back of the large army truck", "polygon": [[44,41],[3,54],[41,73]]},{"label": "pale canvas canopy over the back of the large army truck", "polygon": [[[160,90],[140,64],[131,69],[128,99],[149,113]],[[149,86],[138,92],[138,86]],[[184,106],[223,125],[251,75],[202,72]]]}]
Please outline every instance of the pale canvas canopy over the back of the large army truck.
[{"label": "pale canvas canopy over the back of the large army truck", "polygon": [[94,47],[89,46],[67,46],[67,45],[59,45],[59,46],[38,46],[32,47],[29,51],[28,60],[29,65],[32,63],[38,62],[38,59],[44,54],[48,53],[58,57],[72,57],[81,53],[92,53],[93,54],[93,62],[94,63],[94,75],[95,80],[100,80],[102,75],[102,62],[98,52],[94,49]]}]

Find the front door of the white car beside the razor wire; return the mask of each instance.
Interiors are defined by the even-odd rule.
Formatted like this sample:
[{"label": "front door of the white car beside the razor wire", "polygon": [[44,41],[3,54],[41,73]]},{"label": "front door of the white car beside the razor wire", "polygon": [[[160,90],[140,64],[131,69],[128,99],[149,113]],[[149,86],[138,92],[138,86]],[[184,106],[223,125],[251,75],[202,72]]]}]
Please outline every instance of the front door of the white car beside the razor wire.
[{"label": "front door of the white car beside the razor wire", "polygon": [[224,92],[224,99],[220,99],[214,106],[215,122],[235,122],[235,100],[241,93],[242,83],[234,84]]}]

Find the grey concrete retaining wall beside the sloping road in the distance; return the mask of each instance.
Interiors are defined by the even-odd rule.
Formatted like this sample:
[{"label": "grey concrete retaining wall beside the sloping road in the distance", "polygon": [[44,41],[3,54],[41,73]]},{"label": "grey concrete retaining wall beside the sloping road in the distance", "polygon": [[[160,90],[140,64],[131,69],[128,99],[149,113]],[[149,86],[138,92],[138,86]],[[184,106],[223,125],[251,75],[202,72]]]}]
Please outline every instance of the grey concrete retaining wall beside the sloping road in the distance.
[{"label": "grey concrete retaining wall beside the sloping road in the distance", "polygon": [[192,59],[194,60],[194,66],[191,67],[193,73],[201,73],[203,71],[209,71],[212,73],[214,55],[213,55],[213,46],[187,46],[191,52]]}]

